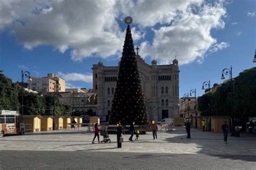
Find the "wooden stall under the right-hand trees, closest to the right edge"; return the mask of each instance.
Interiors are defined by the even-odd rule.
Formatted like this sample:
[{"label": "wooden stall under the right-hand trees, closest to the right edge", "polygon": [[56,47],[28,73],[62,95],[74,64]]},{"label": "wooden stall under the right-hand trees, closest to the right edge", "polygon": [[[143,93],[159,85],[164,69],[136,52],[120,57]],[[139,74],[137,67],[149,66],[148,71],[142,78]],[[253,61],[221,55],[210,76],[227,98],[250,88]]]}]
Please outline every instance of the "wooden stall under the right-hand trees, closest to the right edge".
[{"label": "wooden stall under the right-hand trees, closest to the right edge", "polygon": [[211,117],[211,131],[223,132],[221,126],[227,121],[227,125],[230,125],[230,117],[228,116],[212,116]]}]

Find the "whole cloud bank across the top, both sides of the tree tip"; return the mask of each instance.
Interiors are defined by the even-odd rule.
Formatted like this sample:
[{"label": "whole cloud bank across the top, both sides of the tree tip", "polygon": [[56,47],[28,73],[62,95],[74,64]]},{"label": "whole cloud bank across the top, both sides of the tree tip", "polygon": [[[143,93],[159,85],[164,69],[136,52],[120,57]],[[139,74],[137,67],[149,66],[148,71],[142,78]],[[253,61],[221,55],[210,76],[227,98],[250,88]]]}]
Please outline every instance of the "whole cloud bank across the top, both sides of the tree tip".
[{"label": "whole cloud bank across the top, both sides of the tree tip", "polygon": [[[212,29],[223,29],[223,1],[0,1],[0,30],[9,30],[26,49],[52,45],[71,50],[76,61],[86,57],[121,55],[125,30],[118,22],[133,17],[132,36],[142,42],[140,55],[160,63],[180,64],[204,58],[217,43]],[[65,10],[63,10],[65,9]],[[157,27],[156,27],[157,25]],[[134,28],[138,26],[138,28]],[[151,36],[153,42],[146,42]]]}]

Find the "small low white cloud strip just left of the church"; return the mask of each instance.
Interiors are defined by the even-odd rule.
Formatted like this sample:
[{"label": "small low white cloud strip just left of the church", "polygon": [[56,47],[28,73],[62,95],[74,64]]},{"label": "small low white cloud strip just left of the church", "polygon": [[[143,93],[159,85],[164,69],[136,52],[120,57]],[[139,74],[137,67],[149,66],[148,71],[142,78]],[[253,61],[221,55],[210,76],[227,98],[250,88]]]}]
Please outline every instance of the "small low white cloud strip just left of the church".
[{"label": "small low white cloud strip just left of the church", "polygon": [[63,78],[65,81],[84,81],[85,83],[92,83],[92,74],[86,73],[62,73],[58,72],[60,78]]}]

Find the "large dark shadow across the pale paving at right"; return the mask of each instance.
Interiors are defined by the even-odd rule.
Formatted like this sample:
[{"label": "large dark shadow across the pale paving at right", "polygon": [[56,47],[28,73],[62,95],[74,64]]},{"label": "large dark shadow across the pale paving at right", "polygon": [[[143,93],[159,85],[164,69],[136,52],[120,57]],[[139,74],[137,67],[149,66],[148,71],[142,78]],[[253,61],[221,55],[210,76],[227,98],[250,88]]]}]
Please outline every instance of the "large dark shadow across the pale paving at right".
[{"label": "large dark shadow across the pale paving at right", "polygon": [[166,138],[165,141],[180,144],[196,144],[200,154],[243,161],[256,161],[256,136],[241,134],[241,137],[228,135],[228,144],[224,143],[223,133],[191,131],[191,139],[187,139],[186,131],[179,128],[177,131],[167,132],[177,134],[175,137]]}]

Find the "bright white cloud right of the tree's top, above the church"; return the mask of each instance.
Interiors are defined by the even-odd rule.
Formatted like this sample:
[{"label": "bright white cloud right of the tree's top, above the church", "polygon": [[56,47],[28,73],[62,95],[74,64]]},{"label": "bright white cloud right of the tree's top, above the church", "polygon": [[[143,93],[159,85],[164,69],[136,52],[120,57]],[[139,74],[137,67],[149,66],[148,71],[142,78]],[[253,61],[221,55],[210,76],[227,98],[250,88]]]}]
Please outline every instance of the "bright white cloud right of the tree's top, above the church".
[{"label": "bright white cloud right of the tree's top, above the church", "polygon": [[155,57],[160,64],[170,64],[174,56],[177,56],[180,64],[196,59],[200,62],[206,51],[217,43],[211,36],[211,30],[224,28],[225,23],[221,18],[226,10],[223,4],[215,3],[202,4],[197,13],[192,11],[193,8],[188,8],[180,13],[179,19],[174,20],[172,25],[154,29],[152,44],[143,42],[141,53]]}]

